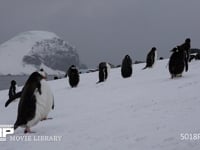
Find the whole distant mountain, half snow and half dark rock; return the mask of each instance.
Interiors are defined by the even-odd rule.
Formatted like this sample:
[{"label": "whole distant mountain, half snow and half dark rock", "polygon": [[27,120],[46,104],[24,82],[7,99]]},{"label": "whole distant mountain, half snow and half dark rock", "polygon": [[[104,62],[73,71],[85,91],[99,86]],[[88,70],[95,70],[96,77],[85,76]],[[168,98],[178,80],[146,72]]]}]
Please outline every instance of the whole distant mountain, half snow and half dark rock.
[{"label": "whole distant mountain, half snow and half dark rock", "polygon": [[0,74],[30,74],[39,68],[57,74],[72,64],[86,68],[76,48],[51,32],[24,32],[0,45]]}]

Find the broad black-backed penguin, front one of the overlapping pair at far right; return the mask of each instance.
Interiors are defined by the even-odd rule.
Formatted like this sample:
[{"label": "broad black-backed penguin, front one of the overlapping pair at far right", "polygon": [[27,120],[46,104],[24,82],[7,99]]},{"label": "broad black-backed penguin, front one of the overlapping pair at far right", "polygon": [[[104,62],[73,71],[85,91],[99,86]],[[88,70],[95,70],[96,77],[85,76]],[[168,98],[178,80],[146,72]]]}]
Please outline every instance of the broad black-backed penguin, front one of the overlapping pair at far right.
[{"label": "broad black-backed penguin, front one of the overlapping pair at far right", "polygon": [[171,50],[172,55],[169,59],[169,72],[171,74],[171,78],[181,77],[186,67],[187,59],[185,56],[185,51],[179,49],[177,46]]}]

